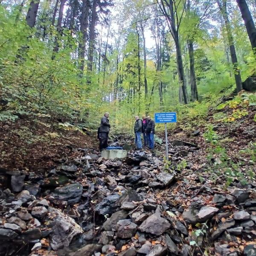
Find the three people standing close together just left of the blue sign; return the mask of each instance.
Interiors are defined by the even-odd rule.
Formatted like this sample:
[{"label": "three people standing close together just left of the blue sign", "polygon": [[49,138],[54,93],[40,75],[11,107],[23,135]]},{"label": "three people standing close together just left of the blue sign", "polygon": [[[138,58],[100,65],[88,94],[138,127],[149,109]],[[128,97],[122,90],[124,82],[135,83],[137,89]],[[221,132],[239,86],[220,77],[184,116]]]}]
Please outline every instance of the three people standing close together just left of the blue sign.
[{"label": "three people standing close together just left of the blue sign", "polygon": [[135,116],[134,133],[135,133],[135,145],[137,149],[142,149],[141,134],[143,134],[144,147],[154,149],[154,133],[155,133],[154,120],[150,116],[143,116],[140,119],[139,116]]}]

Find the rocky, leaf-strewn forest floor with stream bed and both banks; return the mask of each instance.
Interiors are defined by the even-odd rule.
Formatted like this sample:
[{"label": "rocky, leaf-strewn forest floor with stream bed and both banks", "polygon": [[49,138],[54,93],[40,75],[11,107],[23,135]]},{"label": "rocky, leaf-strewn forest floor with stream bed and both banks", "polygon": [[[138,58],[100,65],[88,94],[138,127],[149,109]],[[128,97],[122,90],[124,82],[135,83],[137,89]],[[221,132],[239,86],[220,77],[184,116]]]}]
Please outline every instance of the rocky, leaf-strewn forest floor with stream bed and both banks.
[{"label": "rocky, leaf-strewn forest floor with stream bed and both banks", "polygon": [[3,124],[0,255],[255,256],[256,106],[222,101],[168,132],[169,161],[164,143],[105,160],[96,132]]}]

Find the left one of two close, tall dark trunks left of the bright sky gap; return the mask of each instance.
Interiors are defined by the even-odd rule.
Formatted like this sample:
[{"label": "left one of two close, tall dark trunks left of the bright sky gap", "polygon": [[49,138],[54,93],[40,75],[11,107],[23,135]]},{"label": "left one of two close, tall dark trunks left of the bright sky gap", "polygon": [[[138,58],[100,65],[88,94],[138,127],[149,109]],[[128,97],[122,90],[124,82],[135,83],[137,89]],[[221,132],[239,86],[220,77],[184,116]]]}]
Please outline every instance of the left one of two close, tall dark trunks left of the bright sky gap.
[{"label": "left one of two close, tall dark trunks left of the bright sky gap", "polygon": [[85,45],[87,40],[88,15],[89,15],[89,1],[83,0],[81,20],[80,20],[81,40],[79,41],[79,45],[78,45],[78,58],[80,61],[81,74],[84,73],[84,55],[85,55]]}]

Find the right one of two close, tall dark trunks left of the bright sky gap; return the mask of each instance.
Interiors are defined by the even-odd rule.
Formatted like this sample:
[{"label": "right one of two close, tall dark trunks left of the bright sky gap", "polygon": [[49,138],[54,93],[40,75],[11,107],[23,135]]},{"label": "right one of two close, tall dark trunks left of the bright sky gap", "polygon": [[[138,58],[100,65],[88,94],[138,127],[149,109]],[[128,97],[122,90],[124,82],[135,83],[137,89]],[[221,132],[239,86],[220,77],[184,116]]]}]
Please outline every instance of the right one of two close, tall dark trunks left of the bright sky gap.
[{"label": "right one of two close, tall dark trunks left of the bright sky gap", "polygon": [[91,17],[91,22],[90,22],[88,63],[87,63],[87,83],[88,84],[91,83],[91,76],[92,76],[92,71],[93,71],[93,51],[94,51],[94,39],[95,39],[96,6],[97,6],[97,0],[93,0],[92,17]]}]

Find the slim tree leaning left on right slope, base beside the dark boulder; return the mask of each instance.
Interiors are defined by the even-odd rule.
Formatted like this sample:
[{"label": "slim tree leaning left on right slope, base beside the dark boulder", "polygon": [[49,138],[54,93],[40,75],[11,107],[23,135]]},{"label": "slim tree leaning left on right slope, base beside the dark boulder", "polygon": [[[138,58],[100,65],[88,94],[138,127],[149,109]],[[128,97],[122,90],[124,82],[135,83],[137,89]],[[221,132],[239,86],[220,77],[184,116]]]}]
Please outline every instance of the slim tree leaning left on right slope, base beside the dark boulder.
[{"label": "slim tree leaning left on right slope, base beside the dark boulder", "polygon": [[236,80],[236,91],[239,93],[243,87],[242,87],[242,80],[240,76],[240,70],[238,68],[238,62],[237,62],[237,57],[236,57],[236,49],[234,45],[234,39],[231,31],[231,26],[230,26],[230,21],[227,15],[227,0],[217,0],[218,6],[221,10],[221,14],[224,18],[225,21],[225,27],[227,31],[227,39],[228,39],[228,44],[230,48],[230,55],[231,55],[231,61],[233,64],[233,70],[235,74],[235,80]]}]

